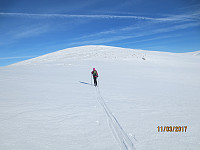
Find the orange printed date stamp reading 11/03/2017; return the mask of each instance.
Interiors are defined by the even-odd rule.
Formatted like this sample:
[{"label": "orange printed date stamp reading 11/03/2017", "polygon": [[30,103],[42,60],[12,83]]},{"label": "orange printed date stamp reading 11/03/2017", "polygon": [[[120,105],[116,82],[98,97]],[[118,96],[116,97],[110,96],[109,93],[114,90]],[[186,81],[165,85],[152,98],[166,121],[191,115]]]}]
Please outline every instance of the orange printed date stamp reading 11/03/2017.
[{"label": "orange printed date stamp reading 11/03/2017", "polygon": [[158,132],[186,132],[187,126],[158,126]]}]

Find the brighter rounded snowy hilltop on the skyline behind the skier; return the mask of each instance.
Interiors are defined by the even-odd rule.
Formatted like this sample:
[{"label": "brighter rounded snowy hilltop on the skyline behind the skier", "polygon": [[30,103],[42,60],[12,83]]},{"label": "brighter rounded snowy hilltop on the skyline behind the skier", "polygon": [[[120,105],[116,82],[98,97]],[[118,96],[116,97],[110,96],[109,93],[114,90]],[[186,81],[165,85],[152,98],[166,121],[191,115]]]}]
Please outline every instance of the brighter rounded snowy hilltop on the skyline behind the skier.
[{"label": "brighter rounded snowy hilltop on the skyline behind the skier", "polygon": [[[81,46],[75,48],[68,48],[60,51],[56,51],[53,53],[49,53],[40,57],[36,57],[33,59],[29,59],[26,61],[22,61],[16,63],[14,65],[38,65],[38,64],[63,64],[66,61],[79,61],[79,60],[145,60],[150,59],[170,59],[174,53],[168,52],[157,52],[157,51],[145,51],[138,49],[127,49],[127,48],[119,48],[119,47],[111,47],[111,46],[97,46],[97,45],[89,45],[89,46]],[[175,55],[177,57],[178,54]]]}]

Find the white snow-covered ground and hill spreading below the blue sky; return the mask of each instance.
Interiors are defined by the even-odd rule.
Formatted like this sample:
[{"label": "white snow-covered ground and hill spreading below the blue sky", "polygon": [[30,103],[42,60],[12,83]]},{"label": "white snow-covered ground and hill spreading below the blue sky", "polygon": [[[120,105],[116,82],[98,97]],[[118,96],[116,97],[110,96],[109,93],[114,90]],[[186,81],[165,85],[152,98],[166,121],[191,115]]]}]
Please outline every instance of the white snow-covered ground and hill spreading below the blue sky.
[{"label": "white snow-covered ground and hill spreading below the blue sky", "polygon": [[0,149],[199,150],[197,53],[82,46],[0,67]]}]

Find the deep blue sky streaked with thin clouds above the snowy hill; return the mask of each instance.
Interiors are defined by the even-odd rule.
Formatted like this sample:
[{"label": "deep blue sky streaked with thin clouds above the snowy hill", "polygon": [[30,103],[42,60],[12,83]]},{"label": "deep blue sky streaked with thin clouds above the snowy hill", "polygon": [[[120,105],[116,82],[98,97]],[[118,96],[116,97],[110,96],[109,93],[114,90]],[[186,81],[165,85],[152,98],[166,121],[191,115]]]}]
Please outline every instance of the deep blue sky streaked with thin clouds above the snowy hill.
[{"label": "deep blue sky streaked with thin clouds above the snowy hill", "polygon": [[200,1],[0,0],[0,66],[82,45],[200,50]]}]

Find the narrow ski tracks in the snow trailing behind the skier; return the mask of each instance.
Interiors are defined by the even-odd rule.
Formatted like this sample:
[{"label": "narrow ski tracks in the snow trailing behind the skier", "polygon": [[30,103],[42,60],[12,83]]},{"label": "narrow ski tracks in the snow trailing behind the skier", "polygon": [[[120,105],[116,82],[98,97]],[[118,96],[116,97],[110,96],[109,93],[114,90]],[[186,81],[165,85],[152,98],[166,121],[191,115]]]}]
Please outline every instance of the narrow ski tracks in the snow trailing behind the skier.
[{"label": "narrow ski tracks in the snow trailing behind the skier", "polygon": [[120,145],[121,150],[136,150],[133,142],[130,140],[130,138],[128,137],[126,132],[121,127],[120,123],[117,121],[115,116],[112,114],[112,112],[106,105],[103,97],[101,96],[99,87],[96,87],[96,91],[97,91],[98,102],[101,104],[104,111],[106,112],[109,126],[113,132],[115,139],[117,140],[118,144]]}]

